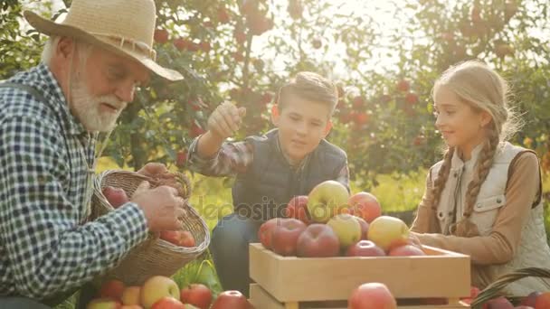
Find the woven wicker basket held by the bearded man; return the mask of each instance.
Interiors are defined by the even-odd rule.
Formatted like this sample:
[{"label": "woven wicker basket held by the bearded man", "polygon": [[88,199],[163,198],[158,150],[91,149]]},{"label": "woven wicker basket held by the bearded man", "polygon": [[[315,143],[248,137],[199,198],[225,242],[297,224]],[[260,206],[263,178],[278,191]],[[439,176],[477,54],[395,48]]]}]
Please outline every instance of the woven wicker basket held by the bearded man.
[{"label": "woven wicker basket held by the bearded man", "polygon": [[[175,174],[178,183],[183,187],[179,195],[185,199],[185,217],[182,218],[183,229],[189,230],[195,239],[196,247],[178,247],[159,239],[158,234],[150,233],[147,240],[133,248],[121,261],[118,267],[111,269],[105,279],[119,279],[126,285],[141,285],[150,276],[172,276],[185,264],[199,257],[210,244],[210,231],[204,220],[187,202],[191,193],[189,180],[182,173]],[[148,181],[151,188],[163,184],[162,179],[153,179],[139,173],[109,170],[100,173],[93,184],[90,218],[96,218],[113,211],[113,207],[101,190],[106,186],[123,189],[128,197],[136,191],[139,183]]]}]

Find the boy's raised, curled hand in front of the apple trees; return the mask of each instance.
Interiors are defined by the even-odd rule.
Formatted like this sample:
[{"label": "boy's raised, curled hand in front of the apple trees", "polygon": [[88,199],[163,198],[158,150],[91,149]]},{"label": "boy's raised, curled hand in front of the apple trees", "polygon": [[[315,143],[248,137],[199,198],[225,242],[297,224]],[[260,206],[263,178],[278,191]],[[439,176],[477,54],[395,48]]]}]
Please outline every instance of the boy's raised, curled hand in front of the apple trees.
[{"label": "boy's raised, curled hand in front of the apple trees", "polygon": [[246,108],[237,108],[231,102],[224,102],[208,118],[208,130],[221,139],[233,136],[241,127],[244,115]]}]

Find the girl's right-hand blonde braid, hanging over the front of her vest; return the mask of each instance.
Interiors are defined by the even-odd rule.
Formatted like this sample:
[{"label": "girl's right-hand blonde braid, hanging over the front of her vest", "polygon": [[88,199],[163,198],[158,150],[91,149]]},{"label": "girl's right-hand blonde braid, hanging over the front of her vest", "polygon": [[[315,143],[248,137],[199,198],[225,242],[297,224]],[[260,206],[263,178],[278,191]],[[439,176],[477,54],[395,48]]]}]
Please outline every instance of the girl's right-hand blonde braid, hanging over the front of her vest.
[{"label": "girl's right-hand blonde braid, hanging over the front of her vest", "polygon": [[478,199],[481,184],[485,182],[488,171],[493,165],[493,160],[495,158],[495,153],[497,152],[499,141],[497,129],[492,128],[488,130],[488,139],[485,142],[485,145],[483,145],[483,149],[479,155],[476,174],[474,175],[473,180],[468,184],[468,190],[466,191],[466,208],[463,213],[465,218],[469,218],[469,216],[471,216],[476,200]]}]

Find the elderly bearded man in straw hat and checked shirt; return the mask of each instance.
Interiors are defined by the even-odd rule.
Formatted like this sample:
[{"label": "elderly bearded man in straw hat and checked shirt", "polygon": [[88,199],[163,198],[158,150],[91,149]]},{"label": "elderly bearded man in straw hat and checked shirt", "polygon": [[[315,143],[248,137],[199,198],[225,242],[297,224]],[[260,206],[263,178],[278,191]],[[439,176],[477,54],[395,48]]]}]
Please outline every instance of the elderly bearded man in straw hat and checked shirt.
[{"label": "elderly bearded man in straw hat and checked shirt", "polygon": [[181,228],[184,205],[175,189],[142,183],[87,221],[98,133],[112,130],[150,72],[182,79],[155,62],[153,0],[73,0],[62,23],[24,16],[50,40],[41,64],[0,84],[0,308],[58,304],[148,231]]}]

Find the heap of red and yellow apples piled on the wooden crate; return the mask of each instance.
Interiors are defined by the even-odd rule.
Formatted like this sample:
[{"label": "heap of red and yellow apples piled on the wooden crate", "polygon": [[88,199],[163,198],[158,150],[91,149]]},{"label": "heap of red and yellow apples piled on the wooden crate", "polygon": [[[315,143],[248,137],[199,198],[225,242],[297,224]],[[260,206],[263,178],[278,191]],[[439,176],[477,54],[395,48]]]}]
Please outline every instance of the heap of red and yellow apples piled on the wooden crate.
[{"label": "heap of red and yellow apples piled on the wooden crate", "polygon": [[308,196],[292,198],[285,218],[263,223],[258,238],[264,248],[281,256],[425,255],[409,239],[409,228],[403,220],[381,213],[373,194],[358,192],[349,196],[341,183],[326,181]]}]

